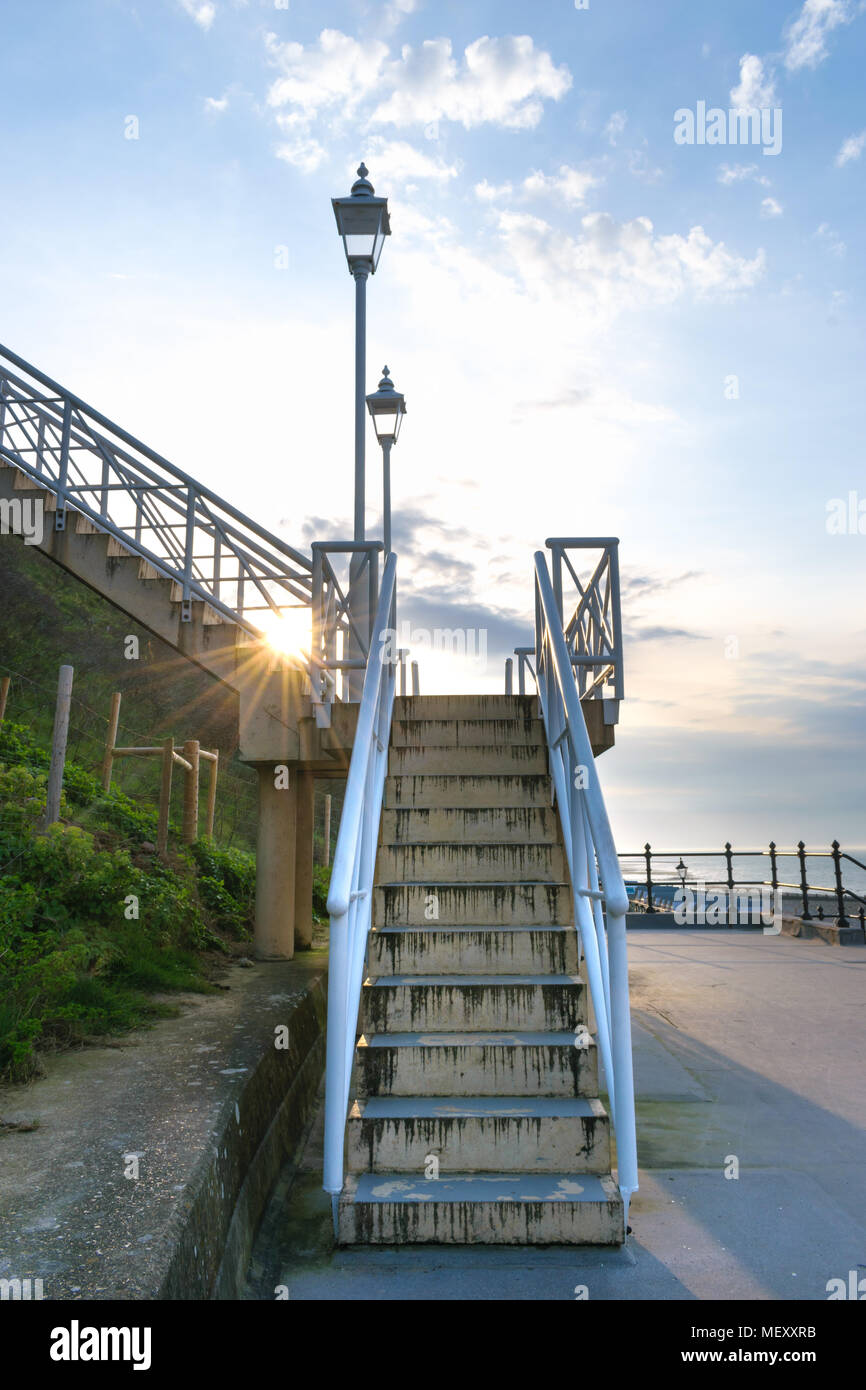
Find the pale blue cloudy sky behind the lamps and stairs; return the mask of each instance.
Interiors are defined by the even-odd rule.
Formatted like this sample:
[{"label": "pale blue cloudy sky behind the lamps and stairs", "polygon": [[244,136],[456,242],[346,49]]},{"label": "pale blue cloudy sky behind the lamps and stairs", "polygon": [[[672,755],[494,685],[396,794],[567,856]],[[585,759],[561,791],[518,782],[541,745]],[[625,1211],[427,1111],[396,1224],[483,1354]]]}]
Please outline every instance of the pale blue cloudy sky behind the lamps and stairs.
[{"label": "pale blue cloudy sky behind the lamps and stairs", "polygon": [[366,160],[423,691],[502,691],[534,552],[619,537],[619,847],[866,845],[865,67],[860,0],[4,0],[0,341],[349,537]]}]

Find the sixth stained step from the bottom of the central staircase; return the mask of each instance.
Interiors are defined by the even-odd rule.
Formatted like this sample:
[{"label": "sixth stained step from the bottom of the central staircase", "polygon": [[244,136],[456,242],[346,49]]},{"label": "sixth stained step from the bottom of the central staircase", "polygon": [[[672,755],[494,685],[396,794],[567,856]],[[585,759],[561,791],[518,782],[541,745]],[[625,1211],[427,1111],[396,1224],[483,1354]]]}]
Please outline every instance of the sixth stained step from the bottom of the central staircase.
[{"label": "sixth stained step from the bottom of the central staircase", "polygon": [[573,917],[566,883],[421,883],[373,890],[374,927],[564,927]]}]

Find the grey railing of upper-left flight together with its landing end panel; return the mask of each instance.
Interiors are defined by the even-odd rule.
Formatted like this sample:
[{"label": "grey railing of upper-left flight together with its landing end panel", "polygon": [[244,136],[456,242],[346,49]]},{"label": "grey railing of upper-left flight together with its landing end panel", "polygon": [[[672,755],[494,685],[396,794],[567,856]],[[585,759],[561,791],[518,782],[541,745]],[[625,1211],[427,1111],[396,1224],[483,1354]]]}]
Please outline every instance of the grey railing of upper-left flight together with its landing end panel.
[{"label": "grey railing of upper-left flight together with its landing end panel", "polygon": [[[85,518],[113,538],[110,555],[145,562],[142,578],[172,581],[185,623],[202,600],[261,638],[289,609],[310,607],[317,721],[329,724],[332,702],[352,698],[350,673],[367,664],[381,542],[317,542],[307,559],[3,346],[0,460],[50,495],[56,531]],[[352,592],[338,555],[357,564]]]}]

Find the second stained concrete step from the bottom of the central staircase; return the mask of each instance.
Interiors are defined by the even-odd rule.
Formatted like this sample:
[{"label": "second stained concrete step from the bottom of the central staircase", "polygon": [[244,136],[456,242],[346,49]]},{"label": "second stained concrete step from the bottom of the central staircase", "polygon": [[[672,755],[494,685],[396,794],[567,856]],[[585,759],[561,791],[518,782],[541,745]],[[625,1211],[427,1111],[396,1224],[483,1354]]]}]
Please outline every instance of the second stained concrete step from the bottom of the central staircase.
[{"label": "second stained concrete step from the bottom of the central staircase", "polygon": [[610,1172],[610,1120],[585,1097],[374,1095],[349,1111],[353,1173]]}]

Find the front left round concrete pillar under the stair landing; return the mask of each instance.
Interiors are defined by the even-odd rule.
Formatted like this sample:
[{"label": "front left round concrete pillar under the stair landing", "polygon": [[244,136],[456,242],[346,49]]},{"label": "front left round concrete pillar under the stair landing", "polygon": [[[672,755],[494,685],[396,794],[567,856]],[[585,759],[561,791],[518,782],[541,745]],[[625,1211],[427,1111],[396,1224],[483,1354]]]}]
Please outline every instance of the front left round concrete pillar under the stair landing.
[{"label": "front left round concrete pillar under the stair landing", "polygon": [[256,841],[257,960],[295,955],[295,828],[297,773],[285,763],[259,764]]}]

